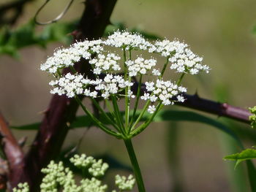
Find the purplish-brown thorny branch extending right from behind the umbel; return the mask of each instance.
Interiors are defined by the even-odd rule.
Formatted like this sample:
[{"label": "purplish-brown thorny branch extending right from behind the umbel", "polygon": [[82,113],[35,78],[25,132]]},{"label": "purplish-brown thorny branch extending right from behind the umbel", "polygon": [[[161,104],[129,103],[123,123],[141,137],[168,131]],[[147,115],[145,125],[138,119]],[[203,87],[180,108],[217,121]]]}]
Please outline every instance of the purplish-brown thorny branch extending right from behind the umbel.
[{"label": "purplish-brown thorny branch extending right from behind the umbel", "polygon": [[227,103],[219,103],[208,99],[202,99],[197,94],[183,94],[186,101],[184,103],[176,103],[183,107],[189,107],[194,110],[208,112],[219,117],[231,118],[244,123],[250,123],[249,116],[252,115],[249,110],[234,107]]}]

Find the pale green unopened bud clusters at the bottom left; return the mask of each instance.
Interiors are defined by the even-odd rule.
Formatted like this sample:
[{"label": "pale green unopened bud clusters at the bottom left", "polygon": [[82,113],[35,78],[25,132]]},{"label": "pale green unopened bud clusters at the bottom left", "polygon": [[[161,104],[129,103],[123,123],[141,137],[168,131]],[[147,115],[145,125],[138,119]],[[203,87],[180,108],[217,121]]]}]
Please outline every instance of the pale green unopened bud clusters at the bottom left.
[{"label": "pale green unopened bud clusters at the bottom left", "polygon": [[[40,185],[41,192],[57,192],[59,188],[66,192],[105,192],[108,189],[107,185],[103,185],[102,181],[97,177],[102,177],[108,169],[108,164],[103,163],[102,159],[98,161],[91,156],[74,155],[70,158],[70,162],[82,170],[88,170],[93,177],[80,180],[80,185],[75,183],[75,175],[73,172],[64,166],[63,162],[59,164],[50,161],[50,164],[42,173],[45,177]],[[135,179],[132,174],[129,177],[116,175],[115,183],[118,191],[131,191],[135,185]],[[29,192],[28,183],[19,183],[18,188],[13,189],[14,192]],[[113,190],[112,192],[116,192]]]}]

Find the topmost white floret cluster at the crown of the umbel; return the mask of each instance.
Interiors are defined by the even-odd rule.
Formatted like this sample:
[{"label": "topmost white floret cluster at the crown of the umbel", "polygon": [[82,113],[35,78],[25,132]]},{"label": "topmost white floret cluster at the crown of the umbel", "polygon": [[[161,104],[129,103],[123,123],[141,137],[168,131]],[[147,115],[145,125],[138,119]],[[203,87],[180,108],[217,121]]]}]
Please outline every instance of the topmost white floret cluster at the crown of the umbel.
[{"label": "topmost white floret cluster at the crown of the umbel", "polygon": [[105,40],[105,45],[113,47],[126,47],[129,49],[146,50],[151,43],[146,41],[140,34],[132,34],[128,31],[115,31]]}]

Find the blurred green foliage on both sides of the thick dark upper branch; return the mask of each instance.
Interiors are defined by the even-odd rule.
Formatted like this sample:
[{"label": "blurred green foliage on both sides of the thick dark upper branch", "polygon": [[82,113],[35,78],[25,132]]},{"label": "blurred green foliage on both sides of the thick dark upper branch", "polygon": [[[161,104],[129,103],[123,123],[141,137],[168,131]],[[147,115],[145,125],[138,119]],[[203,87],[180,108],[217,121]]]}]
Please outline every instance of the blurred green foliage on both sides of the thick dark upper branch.
[{"label": "blurred green foliage on both sides of the thick dark upper branch", "polygon": [[[32,45],[45,48],[50,42],[62,42],[65,45],[69,45],[72,42],[70,33],[75,30],[77,25],[78,20],[66,23],[52,23],[45,26],[42,32],[39,33],[37,32],[37,24],[34,23],[34,20],[15,30],[6,26],[0,31],[0,55],[7,54],[18,58],[18,50],[21,48]],[[104,37],[112,34],[117,29],[125,30],[127,26],[124,23],[113,23],[106,28]],[[147,39],[161,39],[156,34],[148,33],[140,28],[132,28],[129,31],[138,32]]]}]

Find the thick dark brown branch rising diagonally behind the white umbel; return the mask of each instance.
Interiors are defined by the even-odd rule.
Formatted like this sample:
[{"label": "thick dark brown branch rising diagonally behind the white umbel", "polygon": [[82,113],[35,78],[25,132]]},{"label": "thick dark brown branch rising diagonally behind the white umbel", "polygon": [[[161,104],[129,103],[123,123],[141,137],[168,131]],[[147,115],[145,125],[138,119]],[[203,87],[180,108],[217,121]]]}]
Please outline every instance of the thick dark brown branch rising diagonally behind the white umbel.
[{"label": "thick dark brown branch rising diagonally behind the white umbel", "polygon": [[[87,0],[78,30],[72,32],[75,40],[102,37],[105,27],[110,23],[110,15],[115,4],[116,0]],[[87,76],[91,74],[90,65],[86,64],[86,61],[78,62],[75,68]],[[20,177],[12,178],[12,188],[26,180],[31,186],[31,191],[37,191],[42,178],[40,170],[59,155],[69,124],[75,119],[77,110],[78,104],[74,99],[53,96],[37,137],[26,155],[24,169],[15,169],[15,174],[19,174]]]}]

